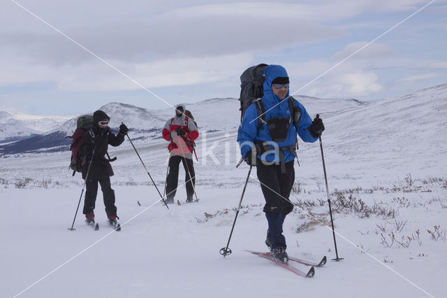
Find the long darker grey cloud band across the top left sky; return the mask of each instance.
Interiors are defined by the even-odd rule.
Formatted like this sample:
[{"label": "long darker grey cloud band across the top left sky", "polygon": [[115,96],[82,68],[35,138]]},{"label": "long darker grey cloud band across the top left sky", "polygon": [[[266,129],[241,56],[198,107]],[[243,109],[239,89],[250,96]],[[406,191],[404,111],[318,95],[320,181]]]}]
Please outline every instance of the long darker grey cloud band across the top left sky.
[{"label": "long darker grey cloud band across the top left sky", "polygon": [[[281,10],[294,7],[284,3],[226,3],[169,10],[147,17],[142,17],[144,13],[138,17],[115,17],[97,24],[54,26],[103,59],[132,62],[275,51],[343,34],[340,29],[300,14],[281,15]],[[45,27],[42,23],[39,25]],[[43,32],[0,31],[0,40],[11,50],[42,64],[79,64],[94,59],[50,27]]]}]

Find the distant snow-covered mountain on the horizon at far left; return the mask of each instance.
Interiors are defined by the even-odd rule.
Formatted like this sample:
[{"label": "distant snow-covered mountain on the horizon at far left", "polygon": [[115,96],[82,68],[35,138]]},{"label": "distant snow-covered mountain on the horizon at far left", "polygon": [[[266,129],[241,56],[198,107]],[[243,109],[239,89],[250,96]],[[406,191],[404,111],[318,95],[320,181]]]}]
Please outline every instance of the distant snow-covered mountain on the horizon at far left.
[{"label": "distant snow-covered mountain on the horizon at far left", "polygon": [[26,139],[59,127],[73,116],[36,116],[0,111],[0,143]]}]

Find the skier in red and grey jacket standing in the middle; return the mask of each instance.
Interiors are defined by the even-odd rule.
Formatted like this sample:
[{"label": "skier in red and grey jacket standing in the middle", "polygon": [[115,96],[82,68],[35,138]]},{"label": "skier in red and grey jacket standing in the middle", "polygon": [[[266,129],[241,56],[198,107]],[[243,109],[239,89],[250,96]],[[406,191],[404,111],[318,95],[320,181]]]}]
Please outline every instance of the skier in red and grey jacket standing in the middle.
[{"label": "skier in red and grey jacket standing in the middle", "polygon": [[193,119],[185,115],[182,104],[175,107],[175,117],[166,122],[163,127],[163,139],[169,141],[169,173],[166,179],[166,203],[174,202],[179,179],[179,164],[183,163],[186,181],[186,203],[193,201],[196,173],[193,166],[193,145],[198,138],[197,126]]}]

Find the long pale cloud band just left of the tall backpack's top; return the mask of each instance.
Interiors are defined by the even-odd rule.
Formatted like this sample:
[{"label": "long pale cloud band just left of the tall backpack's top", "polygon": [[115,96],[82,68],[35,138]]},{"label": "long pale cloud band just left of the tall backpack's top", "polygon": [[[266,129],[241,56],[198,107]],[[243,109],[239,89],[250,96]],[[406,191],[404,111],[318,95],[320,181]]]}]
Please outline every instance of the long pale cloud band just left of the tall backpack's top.
[{"label": "long pale cloud band just left of the tall backpack's top", "polygon": [[[251,55],[241,54],[166,59],[141,64],[112,62],[112,65],[151,89],[196,84],[205,86],[214,82],[231,80],[235,77],[235,73],[240,73],[243,65],[251,59]],[[90,73],[90,75],[82,76],[82,73]],[[101,62],[82,64],[76,68],[67,67],[66,73],[59,79],[58,88],[66,92],[113,92],[141,89],[139,85]]]}]

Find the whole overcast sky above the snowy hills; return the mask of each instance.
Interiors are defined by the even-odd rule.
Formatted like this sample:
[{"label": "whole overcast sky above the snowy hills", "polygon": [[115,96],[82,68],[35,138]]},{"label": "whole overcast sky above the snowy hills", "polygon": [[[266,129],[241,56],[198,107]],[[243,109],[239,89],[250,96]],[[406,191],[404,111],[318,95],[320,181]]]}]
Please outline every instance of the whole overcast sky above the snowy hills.
[{"label": "whole overcast sky above the snowy hills", "polygon": [[[240,74],[281,64],[291,92],[364,101],[447,83],[447,0],[14,0],[168,104],[239,97]],[[0,2],[0,110],[168,104],[10,0]],[[307,85],[307,87],[302,88]]]}]

